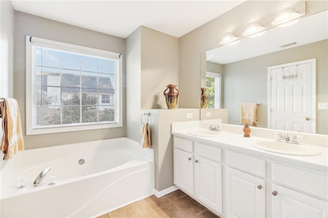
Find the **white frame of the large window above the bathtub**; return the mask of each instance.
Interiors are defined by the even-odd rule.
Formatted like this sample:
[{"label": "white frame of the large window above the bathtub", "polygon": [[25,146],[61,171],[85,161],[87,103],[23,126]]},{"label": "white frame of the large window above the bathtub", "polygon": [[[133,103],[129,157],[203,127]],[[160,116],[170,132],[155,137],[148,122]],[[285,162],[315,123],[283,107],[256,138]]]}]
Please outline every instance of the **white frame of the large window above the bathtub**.
[{"label": "white frame of the large window above the bathtub", "polygon": [[[98,57],[115,59],[116,67],[115,73],[115,121],[104,123],[74,123],[64,124],[61,126],[42,126],[33,127],[33,72],[35,54],[33,54],[33,46],[47,47],[50,49],[63,50],[68,52],[75,52],[86,55],[94,55]],[[63,133],[79,130],[113,128],[122,126],[122,55],[119,53],[103,51],[98,49],[87,48],[83,46],[76,46],[69,43],[58,42],[43,38],[26,36],[26,135],[49,134],[49,133]]]}]

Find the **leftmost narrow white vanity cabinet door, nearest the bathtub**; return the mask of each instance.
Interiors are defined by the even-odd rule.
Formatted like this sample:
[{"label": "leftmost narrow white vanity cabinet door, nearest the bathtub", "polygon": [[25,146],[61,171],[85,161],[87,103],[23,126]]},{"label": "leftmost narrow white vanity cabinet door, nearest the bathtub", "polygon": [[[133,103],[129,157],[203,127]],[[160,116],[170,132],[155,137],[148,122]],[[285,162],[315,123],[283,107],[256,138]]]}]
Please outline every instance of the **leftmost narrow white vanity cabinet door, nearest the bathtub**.
[{"label": "leftmost narrow white vanity cabinet door, nearest the bathtub", "polygon": [[189,194],[194,193],[193,155],[174,148],[174,184]]}]

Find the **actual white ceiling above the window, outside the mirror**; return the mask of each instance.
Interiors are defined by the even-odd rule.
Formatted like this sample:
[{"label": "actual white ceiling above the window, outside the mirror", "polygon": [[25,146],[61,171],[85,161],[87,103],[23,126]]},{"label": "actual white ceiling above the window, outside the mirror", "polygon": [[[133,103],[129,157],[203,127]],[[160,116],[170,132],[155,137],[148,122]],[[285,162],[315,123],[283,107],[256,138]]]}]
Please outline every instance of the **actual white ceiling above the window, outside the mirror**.
[{"label": "actual white ceiling above the window, outside the mirror", "polygon": [[241,1],[17,1],[15,10],[126,38],[139,26],[180,37]]}]

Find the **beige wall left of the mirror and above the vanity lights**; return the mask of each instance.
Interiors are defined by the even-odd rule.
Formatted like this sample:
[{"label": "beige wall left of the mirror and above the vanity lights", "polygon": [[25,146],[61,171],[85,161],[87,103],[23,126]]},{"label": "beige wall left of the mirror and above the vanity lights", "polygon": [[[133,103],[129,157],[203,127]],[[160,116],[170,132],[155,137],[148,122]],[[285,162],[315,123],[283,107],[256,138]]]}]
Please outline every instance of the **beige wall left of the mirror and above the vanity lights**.
[{"label": "beige wall left of the mirror and above the vanity lights", "polygon": [[[292,6],[295,1],[246,1],[179,38],[180,107],[199,108],[201,54],[219,46],[221,36],[262,17]],[[327,9],[326,1],[306,1],[306,13]],[[205,61],[202,58],[202,61]],[[203,71],[204,72],[204,71]]]}]

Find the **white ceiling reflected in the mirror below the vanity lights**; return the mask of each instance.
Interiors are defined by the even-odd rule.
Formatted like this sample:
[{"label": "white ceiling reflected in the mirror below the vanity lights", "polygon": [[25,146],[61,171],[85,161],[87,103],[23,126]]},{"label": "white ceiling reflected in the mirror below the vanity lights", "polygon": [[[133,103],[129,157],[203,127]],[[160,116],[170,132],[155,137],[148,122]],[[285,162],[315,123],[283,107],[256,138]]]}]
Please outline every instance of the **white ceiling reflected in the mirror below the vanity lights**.
[{"label": "white ceiling reflected in the mirror below the vanity lights", "polygon": [[[328,38],[328,11],[323,11],[300,19],[286,27],[275,27],[257,37],[242,38],[235,45],[224,45],[208,51],[207,60],[226,64],[259,55],[302,46]],[[296,45],[281,48],[288,43]]]}]

